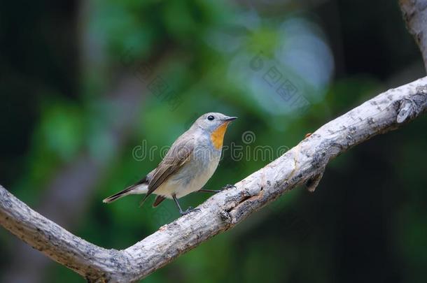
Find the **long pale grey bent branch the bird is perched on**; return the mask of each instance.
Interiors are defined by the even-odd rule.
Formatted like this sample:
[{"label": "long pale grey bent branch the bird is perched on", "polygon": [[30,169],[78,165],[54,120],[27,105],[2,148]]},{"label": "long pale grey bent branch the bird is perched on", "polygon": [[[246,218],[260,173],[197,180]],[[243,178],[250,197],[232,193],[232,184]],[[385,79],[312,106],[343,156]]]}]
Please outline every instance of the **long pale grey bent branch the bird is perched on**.
[{"label": "long pale grey bent branch the bird is perched on", "polygon": [[271,164],[209,198],[124,250],[97,247],[51,222],[0,186],[0,224],[90,282],[134,282],[201,242],[227,231],[269,202],[306,183],[314,191],[330,159],[397,129],[427,110],[427,77],[366,101],[325,124]]}]

